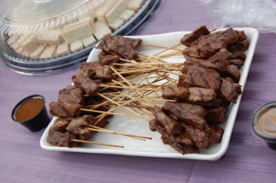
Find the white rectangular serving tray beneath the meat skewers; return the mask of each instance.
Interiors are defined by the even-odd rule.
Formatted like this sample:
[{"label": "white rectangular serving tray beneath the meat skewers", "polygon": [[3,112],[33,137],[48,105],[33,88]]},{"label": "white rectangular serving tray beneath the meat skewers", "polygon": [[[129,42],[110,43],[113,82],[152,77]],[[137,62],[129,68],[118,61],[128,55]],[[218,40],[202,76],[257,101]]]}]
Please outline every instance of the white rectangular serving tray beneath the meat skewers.
[{"label": "white rectangular serving tray beneath the meat skewers", "polygon": [[[242,90],[246,85],[246,79],[250,69],[251,61],[255,52],[255,47],[257,44],[257,39],[259,33],[254,28],[235,28],[235,30],[244,30],[250,41],[248,50],[246,50],[246,61],[244,66],[240,69],[241,78],[239,84],[242,85]],[[189,32],[170,32],[167,34],[156,34],[148,36],[130,36],[131,38],[143,39],[144,44],[150,45],[159,45],[172,47],[177,45],[179,40],[184,34]],[[185,47],[183,45],[183,47]],[[162,49],[157,47],[146,47],[139,46],[139,52],[141,54],[146,54],[148,56],[160,52]],[[97,61],[98,54],[101,50],[94,48],[88,56],[88,62]],[[173,56],[172,58],[166,59],[167,62],[184,62],[184,56]],[[119,155],[135,155],[135,156],[146,156],[146,157],[156,157],[156,158],[184,158],[184,159],[193,159],[193,160],[219,160],[226,150],[230,142],[230,137],[233,131],[233,126],[235,125],[235,119],[237,116],[237,111],[239,109],[239,103],[241,101],[242,95],[239,95],[237,98],[237,103],[231,104],[228,107],[227,119],[224,124],[221,124],[220,127],[224,129],[224,135],[219,144],[213,144],[210,149],[199,149],[200,153],[190,153],[184,154],[175,151],[169,145],[164,144],[160,137],[161,135],[158,132],[150,131],[148,127],[148,122],[143,119],[129,118],[126,116],[112,116],[108,119],[110,124],[106,126],[106,129],[112,131],[119,131],[122,133],[132,133],[140,136],[150,136],[152,140],[135,140],[133,138],[128,138],[125,136],[119,136],[115,134],[108,133],[97,133],[90,140],[95,142],[103,142],[108,144],[117,144],[124,145],[124,148],[116,147],[106,147],[99,146],[95,144],[79,144],[78,147],[68,148],[68,147],[55,147],[49,144],[46,141],[48,136],[48,131],[50,127],[54,124],[57,119],[54,117],[50,122],[50,125],[44,131],[43,136],[40,140],[40,145],[43,149],[51,151],[70,151],[70,152],[81,152],[81,153],[106,153],[106,154],[119,154]],[[118,112],[124,112],[124,109],[117,109]]]}]

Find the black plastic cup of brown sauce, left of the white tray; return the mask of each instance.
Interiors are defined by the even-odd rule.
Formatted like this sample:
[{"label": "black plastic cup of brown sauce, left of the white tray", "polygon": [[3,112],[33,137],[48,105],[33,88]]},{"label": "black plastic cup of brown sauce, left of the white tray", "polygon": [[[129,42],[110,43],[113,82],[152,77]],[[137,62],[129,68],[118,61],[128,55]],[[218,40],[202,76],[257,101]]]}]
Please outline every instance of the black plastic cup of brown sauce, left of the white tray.
[{"label": "black plastic cup of brown sauce, left of the white tray", "polygon": [[12,120],[30,131],[39,131],[46,127],[50,119],[43,96],[32,95],[21,100],[12,110]]}]

